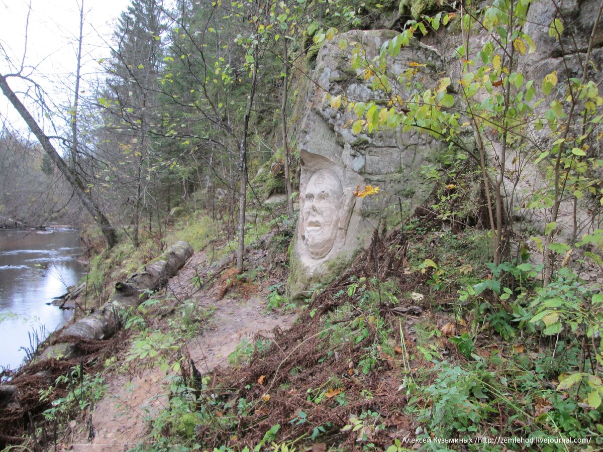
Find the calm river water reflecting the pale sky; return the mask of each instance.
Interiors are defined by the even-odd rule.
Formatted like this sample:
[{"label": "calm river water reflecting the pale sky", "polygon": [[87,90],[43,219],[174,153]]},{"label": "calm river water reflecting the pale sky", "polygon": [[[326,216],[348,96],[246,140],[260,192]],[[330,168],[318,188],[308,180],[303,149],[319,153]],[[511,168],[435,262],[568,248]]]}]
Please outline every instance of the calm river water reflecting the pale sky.
[{"label": "calm river water reflecting the pale sky", "polygon": [[84,274],[78,254],[78,231],[0,230],[0,366],[21,365],[28,333],[42,341],[71,318],[71,310],[46,303]]}]

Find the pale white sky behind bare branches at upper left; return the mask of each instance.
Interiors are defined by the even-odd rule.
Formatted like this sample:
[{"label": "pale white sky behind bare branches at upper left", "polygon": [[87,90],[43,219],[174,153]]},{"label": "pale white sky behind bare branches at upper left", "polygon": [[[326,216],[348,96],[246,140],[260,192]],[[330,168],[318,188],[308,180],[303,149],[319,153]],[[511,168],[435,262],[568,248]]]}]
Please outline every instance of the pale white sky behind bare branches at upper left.
[{"label": "pale white sky behind bare branches at upper left", "polygon": [[[25,36],[28,4],[31,13],[27,27],[27,52]],[[130,0],[83,0],[84,80],[94,80],[102,72],[100,58],[109,57],[107,42],[111,41],[116,19],[130,4]],[[73,98],[75,69],[77,67],[77,40],[80,26],[81,0],[0,0],[0,71],[12,73],[24,61],[24,74],[35,68],[31,77],[39,83],[55,104],[68,104]],[[25,58],[24,58],[25,54]],[[15,79],[8,83],[13,90],[20,88]],[[85,95],[86,83],[81,89]],[[24,99],[22,98],[22,101]],[[33,108],[33,105],[26,104]],[[33,113],[33,111],[32,111]],[[36,116],[36,115],[34,115]],[[0,117],[8,118],[13,127],[22,129],[16,112],[0,93]]]}]

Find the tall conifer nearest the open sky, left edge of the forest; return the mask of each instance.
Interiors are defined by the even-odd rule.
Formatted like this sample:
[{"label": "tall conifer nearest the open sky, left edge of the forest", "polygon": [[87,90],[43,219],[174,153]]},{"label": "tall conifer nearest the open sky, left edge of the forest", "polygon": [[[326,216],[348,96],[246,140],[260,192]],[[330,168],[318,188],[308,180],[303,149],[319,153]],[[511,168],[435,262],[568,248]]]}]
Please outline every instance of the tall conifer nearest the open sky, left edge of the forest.
[{"label": "tall conifer nearest the open sky, left edge of the forest", "polygon": [[[123,187],[122,209],[129,218],[127,232],[139,244],[143,211],[153,212],[150,195],[159,154],[153,149],[152,130],[160,122],[157,108],[157,78],[163,61],[163,5],[156,0],[133,0],[121,14],[115,30],[107,86],[110,100],[103,103],[115,122],[111,168],[115,186]],[[121,162],[127,163],[122,165]],[[150,213],[150,215],[152,215]]]}]

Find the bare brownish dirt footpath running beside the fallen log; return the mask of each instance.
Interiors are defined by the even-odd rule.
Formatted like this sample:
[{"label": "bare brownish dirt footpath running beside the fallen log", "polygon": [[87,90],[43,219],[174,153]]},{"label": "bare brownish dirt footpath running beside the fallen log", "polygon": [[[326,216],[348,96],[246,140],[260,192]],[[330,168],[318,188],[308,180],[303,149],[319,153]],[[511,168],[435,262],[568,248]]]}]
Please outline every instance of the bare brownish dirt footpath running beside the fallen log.
[{"label": "bare brownish dirt footpath running beside the fallen log", "polygon": [[[265,295],[252,295],[248,300],[229,298],[216,300],[215,291],[191,293],[193,278],[203,269],[206,257],[195,253],[179,274],[169,281],[168,292],[179,299],[191,298],[200,309],[215,309],[209,326],[188,341],[195,366],[203,374],[216,366],[228,365],[228,356],[244,338],[274,327],[286,328],[294,314],[266,313]],[[166,375],[159,366],[144,369],[138,375],[116,372],[107,382],[107,393],[96,404],[86,432],[74,433],[71,450],[125,451],[148,441],[150,422],[168,405],[163,388]],[[91,428],[90,428],[91,427]],[[86,435],[92,430],[93,438]]]}]

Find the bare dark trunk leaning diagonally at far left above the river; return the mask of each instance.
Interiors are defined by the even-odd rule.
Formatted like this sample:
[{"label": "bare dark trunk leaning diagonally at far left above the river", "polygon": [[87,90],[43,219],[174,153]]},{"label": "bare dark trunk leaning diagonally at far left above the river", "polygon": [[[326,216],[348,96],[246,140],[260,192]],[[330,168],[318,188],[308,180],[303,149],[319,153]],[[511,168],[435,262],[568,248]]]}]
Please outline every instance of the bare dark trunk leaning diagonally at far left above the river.
[{"label": "bare dark trunk leaning diagonally at far left above the river", "polygon": [[58,154],[57,150],[52,146],[50,139],[43,132],[42,128],[37,124],[36,120],[31,116],[31,113],[27,110],[24,104],[17,98],[17,95],[8,86],[6,77],[0,75],[0,89],[2,93],[8,98],[13,107],[17,110],[21,118],[24,119],[25,124],[30,128],[31,132],[36,136],[37,140],[42,145],[42,148],[48,154],[48,157],[52,160],[55,166],[63,173],[66,180],[71,184],[75,194],[80,198],[84,208],[92,215],[92,218],[96,221],[96,224],[101,228],[103,236],[107,240],[107,245],[112,248],[116,243],[115,229],[110,224],[107,217],[103,214],[101,209],[96,205],[90,196],[87,187],[84,186],[78,175],[66,165],[65,160]]}]

